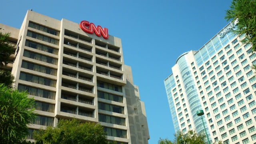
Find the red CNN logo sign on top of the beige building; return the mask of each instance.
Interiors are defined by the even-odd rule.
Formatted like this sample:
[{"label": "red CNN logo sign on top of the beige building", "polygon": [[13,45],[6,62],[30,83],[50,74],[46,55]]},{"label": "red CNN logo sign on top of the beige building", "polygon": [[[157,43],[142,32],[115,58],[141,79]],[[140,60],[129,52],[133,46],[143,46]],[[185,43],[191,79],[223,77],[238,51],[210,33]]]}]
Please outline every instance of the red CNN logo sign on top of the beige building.
[{"label": "red CNN logo sign on top of the beige building", "polygon": [[107,28],[102,28],[101,26],[95,26],[93,23],[90,23],[86,20],[83,20],[79,24],[80,28],[84,32],[87,32],[89,34],[92,34],[93,32],[96,34],[96,36],[103,36],[103,38],[108,39],[108,29]]}]

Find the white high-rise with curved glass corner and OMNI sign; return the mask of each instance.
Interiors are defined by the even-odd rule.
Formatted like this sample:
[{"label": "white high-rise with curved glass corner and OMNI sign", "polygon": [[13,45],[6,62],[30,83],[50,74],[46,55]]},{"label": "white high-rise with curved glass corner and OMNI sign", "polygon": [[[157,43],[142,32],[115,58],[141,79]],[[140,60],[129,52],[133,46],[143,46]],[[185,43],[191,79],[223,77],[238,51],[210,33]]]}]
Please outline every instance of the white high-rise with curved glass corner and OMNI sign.
[{"label": "white high-rise with curved glass corner and OMNI sign", "polygon": [[175,131],[204,132],[211,142],[256,143],[256,54],[244,35],[230,32],[228,24],[197,51],[182,54],[164,80]]}]

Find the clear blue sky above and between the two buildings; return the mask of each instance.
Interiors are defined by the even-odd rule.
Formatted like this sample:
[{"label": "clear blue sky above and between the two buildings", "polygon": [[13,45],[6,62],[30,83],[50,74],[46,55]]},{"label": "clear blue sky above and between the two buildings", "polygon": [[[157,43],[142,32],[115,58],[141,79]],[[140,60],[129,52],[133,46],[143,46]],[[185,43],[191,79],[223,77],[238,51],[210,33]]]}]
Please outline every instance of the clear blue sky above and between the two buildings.
[{"label": "clear blue sky above and between the two buildings", "polygon": [[1,0],[0,23],[20,28],[27,10],[61,20],[82,20],[121,38],[124,64],[145,102],[149,144],[174,139],[164,79],[178,56],[199,50],[228,22],[231,0]]}]

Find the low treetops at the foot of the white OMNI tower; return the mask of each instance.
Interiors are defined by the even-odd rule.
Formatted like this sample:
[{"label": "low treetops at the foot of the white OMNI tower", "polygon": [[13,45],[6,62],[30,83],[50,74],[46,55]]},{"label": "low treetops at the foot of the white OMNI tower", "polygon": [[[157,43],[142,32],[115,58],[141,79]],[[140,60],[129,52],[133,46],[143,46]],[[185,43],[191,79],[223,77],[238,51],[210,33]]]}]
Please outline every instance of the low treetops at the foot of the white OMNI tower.
[{"label": "low treetops at the foot of the white OMNI tower", "polygon": [[[178,131],[174,134],[174,141],[168,139],[158,140],[158,144],[206,144],[205,142],[206,136],[201,133],[197,134],[195,131],[189,130],[187,134],[184,134]],[[221,141],[218,144],[222,144]]]}]

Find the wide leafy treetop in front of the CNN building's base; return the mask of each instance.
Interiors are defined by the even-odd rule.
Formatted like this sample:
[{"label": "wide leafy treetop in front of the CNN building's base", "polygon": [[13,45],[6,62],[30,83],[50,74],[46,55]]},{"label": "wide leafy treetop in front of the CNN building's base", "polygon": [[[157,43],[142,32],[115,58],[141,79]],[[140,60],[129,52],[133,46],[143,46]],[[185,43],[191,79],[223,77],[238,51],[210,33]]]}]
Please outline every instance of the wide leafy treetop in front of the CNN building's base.
[{"label": "wide leafy treetop in front of the CNN building's base", "polygon": [[60,119],[56,127],[35,131],[33,137],[36,144],[109,144],[100,124],[82,123],[75,118]]}]

